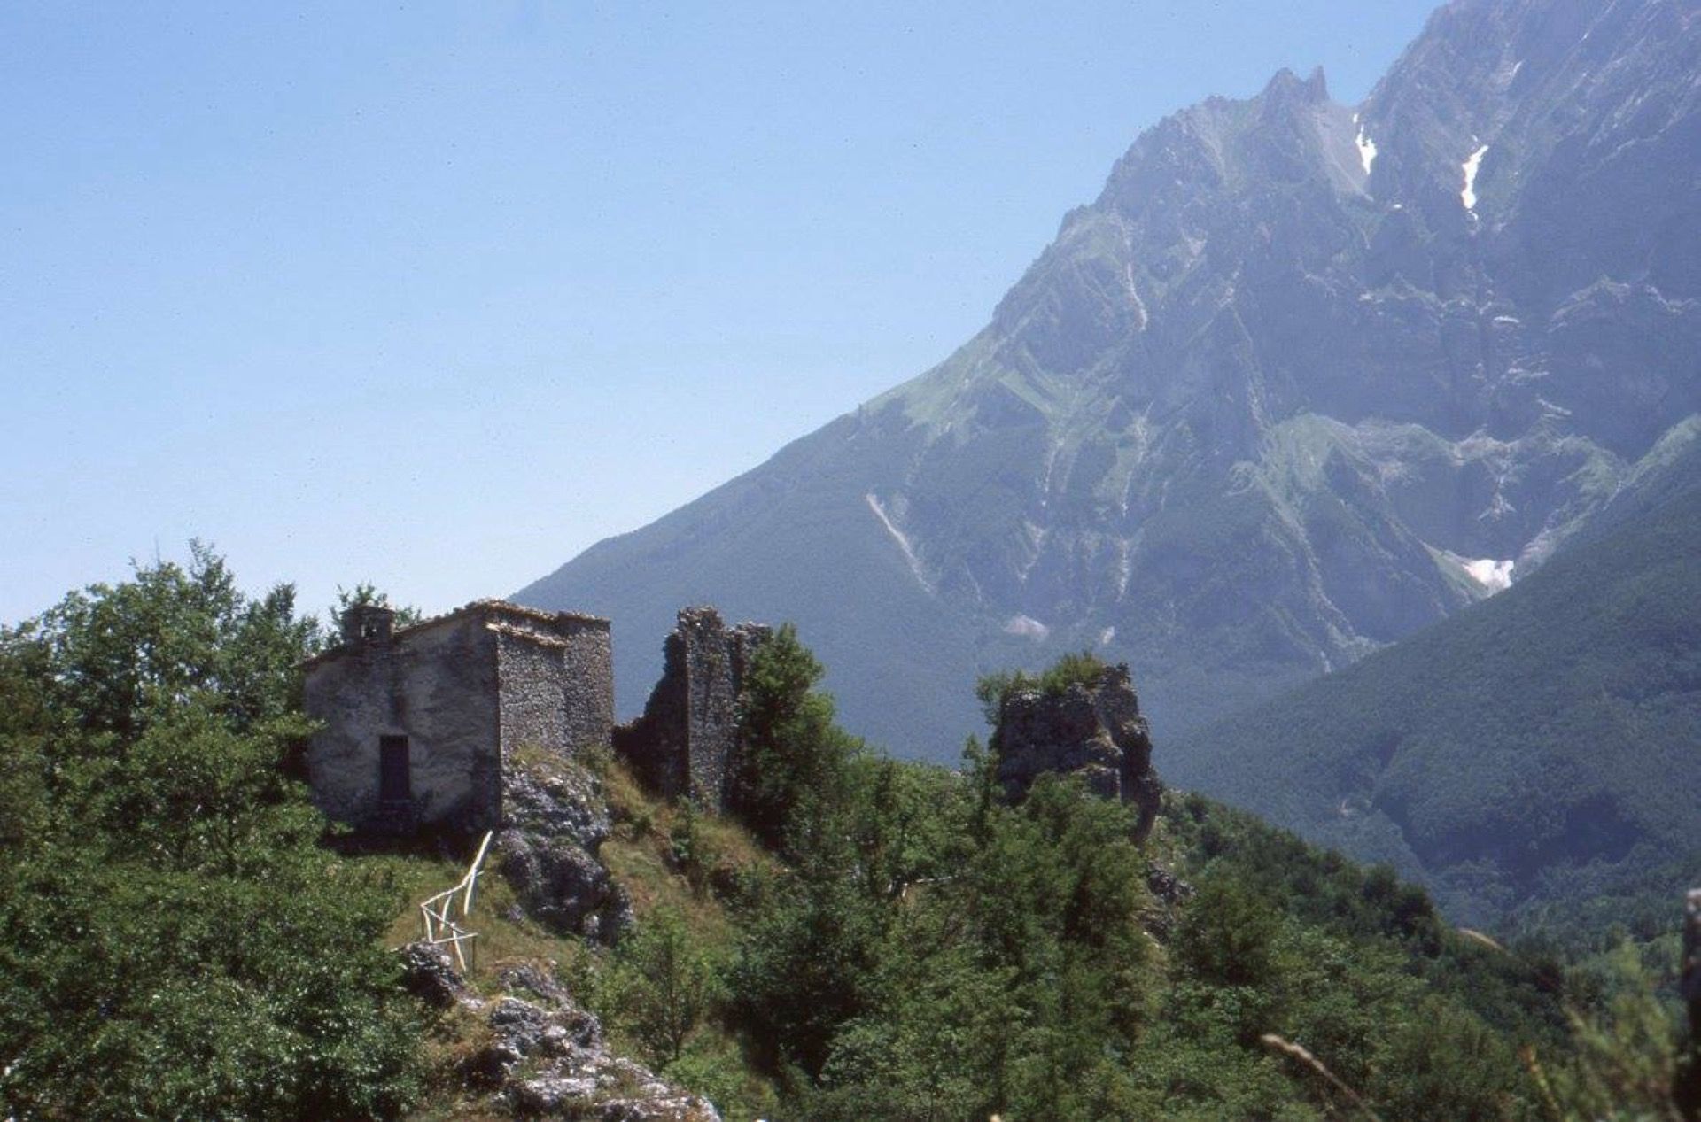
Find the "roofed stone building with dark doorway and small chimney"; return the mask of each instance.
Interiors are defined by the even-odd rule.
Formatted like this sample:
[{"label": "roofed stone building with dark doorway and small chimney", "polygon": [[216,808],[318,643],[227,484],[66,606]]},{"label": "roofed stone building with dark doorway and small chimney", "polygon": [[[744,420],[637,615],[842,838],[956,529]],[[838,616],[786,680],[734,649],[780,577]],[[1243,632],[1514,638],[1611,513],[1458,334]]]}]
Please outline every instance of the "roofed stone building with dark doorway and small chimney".
[{"label": "roofed stone building with dark doorway and small chimney", "polygon": [[570,755],[614,728],[609,620],[476,600],[401,631],[344,612],[342,644],[306,663],[313,801],[374,833],[502,823],[503,763]]}]

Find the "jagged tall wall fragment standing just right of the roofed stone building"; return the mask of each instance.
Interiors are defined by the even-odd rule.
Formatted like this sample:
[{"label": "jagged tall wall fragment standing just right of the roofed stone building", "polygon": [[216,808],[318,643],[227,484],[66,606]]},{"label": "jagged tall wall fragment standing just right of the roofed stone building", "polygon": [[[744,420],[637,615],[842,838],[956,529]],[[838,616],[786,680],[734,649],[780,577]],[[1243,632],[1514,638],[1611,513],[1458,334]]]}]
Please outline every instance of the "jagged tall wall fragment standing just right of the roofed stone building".
[{"label": "jagged tall wall fragment standing just right of the roofed stone building", "polygon": [[738,767],[738,694],[760,624],[728,627],[713,607],[680,610],[663,646],[662,680],[614,748],[653,790],[726,809]]}]

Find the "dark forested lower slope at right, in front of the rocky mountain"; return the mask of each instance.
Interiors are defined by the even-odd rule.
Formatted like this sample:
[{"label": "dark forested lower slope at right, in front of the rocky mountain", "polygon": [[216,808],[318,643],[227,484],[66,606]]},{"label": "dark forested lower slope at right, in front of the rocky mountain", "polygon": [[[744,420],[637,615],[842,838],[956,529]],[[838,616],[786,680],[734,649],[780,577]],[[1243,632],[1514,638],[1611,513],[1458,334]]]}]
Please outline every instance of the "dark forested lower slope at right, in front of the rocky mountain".
[{"label": "dark forested lower slope at right, in front of the rocky mountain", "polygon": [[1701,855],[1692,440],[1677,479],[1490,604],[1186,734],[1165,779],[1391,860],[1468,923],[1624,920],[1655,884],[1667,910]]}]

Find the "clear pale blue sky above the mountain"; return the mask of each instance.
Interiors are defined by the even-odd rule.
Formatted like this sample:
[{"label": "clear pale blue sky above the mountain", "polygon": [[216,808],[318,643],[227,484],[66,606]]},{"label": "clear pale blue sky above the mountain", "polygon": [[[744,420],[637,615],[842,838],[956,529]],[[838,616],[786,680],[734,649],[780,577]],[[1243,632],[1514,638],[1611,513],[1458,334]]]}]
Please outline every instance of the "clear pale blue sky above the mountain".
[{"label": "clear pale blue sky above the mountain", "polygon": [[0,620],[502,595],[942,359],[1140,129],[1427,0],[0,10]]}]

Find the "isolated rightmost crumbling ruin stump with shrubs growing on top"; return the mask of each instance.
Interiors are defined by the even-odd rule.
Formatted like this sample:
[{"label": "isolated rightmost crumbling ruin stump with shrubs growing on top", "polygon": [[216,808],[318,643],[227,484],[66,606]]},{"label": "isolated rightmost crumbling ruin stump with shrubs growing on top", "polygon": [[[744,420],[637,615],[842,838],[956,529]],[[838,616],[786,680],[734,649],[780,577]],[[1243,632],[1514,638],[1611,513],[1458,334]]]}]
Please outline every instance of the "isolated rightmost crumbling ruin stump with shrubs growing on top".
[{"label": "isolated rightmost crumbling ruin stump with shrubs growing on top", "polygon": [[1163,785],[1152,770],[1152,734],[1126,665],[1106,666],[1092,685],[1073,683],[1061,694],[1010,690],[998,707],[993,750],[1007,797],[1021,799],[1046,772],[1075,774],[1092,792],[1135,804],[1140,836],[1150,831]]}]

